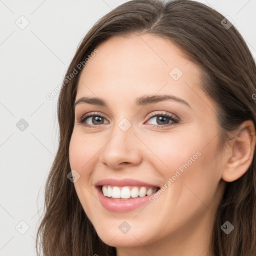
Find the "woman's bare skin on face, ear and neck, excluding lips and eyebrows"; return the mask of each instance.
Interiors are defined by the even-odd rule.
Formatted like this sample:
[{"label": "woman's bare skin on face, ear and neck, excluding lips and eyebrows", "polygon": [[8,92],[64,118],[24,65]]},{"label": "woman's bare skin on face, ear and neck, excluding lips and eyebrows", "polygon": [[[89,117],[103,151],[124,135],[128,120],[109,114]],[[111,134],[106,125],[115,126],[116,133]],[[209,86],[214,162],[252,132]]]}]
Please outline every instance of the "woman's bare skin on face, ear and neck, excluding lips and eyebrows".
[{"label": "woman's bare skin on face, ear and neck, excluding lips and eyebrows", "polygon": [[[176,45],[156,35],[134,34],[111,37],[97,49],[82,70],[75,100],[99,97],[108,107],[77,104],[69,145],[70,167],[80,174],[74,186],[85,213],[118,256],[214,256],[208,251],[214,214],[225,181],[239,178],[252,161],[252,121],[242,123],[219,156],[216,106],[199,88],[200,68]],[[174,67],[182,71],[178,79],[178,69],[169,74]],[[160,94],[179,97],[190,107],[173,99],[135,104],[137,97]],[[102,116],[102,122],[88,117],[83,124],[93,127],[78,123],[85,113]],[[162,124],[149,116],[162,113],[179,122],[166,118]],[[131,124],[126,131],[118,126],[123,118]],[[133,178],[161,187],[190,157],[189,167],[153,202],[109,212],[98,200],[94,184],[99,179]],[[118,228],[124,220],[131,226],[127,233]]]}]

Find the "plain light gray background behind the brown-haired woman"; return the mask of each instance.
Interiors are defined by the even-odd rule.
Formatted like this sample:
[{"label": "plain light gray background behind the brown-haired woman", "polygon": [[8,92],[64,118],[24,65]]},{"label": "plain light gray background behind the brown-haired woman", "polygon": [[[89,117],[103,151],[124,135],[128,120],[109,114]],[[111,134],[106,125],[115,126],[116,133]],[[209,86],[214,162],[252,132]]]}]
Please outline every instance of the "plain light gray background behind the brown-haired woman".
[{"label": "plain light gray background behind the brown-haired woman", "polygon": [[[35,255],[58,141],[58,95],[48,100],[46,94],[62,82],[89,28],[125,1],[0,0],[0,256]],[[256,56],[256,0],[200,2],[231,17]],[[21,15],[29,21],[24,29],[15,23],[25,24]],[[21,118],[29,125],[23,131],[16,127]]]}]

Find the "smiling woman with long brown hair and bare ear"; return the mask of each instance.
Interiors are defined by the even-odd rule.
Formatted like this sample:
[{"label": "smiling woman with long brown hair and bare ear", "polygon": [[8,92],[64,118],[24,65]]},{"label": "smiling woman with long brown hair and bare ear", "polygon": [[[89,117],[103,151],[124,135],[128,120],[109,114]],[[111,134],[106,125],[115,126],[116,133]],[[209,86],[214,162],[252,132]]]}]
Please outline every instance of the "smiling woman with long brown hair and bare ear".
[{"label": "smiling woman with long brown hair and bare ear", "polygon": [[132,0],[110,11],[63,80],[36,245],[255,255],[255,92],[248,47],[210,7]]}]

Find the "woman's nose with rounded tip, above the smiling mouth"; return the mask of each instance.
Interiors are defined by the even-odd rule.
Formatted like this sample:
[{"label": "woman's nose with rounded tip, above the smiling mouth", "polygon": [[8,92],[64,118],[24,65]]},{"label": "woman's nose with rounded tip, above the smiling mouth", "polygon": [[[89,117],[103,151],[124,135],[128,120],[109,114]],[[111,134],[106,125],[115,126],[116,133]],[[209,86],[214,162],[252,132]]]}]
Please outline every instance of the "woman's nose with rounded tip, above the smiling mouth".
[{"label": "woman's nose with rounded tip, above the smiling mouth", "polygon": [[100,162],[111,169],[120,169],[128,165],[137,165],[142,160],[142,143],[134,134],[132,126],[123,131],[118,125],[109,133],[101,150]]}]

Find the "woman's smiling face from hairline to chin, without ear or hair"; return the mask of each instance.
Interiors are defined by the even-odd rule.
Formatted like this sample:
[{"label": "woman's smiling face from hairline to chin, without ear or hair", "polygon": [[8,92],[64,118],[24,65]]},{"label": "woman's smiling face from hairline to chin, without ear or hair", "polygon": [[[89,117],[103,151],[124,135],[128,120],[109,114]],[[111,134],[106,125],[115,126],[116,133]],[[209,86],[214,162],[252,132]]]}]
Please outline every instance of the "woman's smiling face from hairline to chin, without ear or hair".
[{"label": "woman's smiling face from hairline to chin, without ear or hair", "polygon": [[78,81],[69,146],[86,215],[120,248],[177,242],[184,232],[203,231],[204,241],[223,187],[215,105],[199,88],[199,67],[152,34],[97,49]]}]

